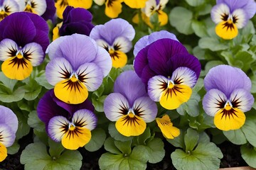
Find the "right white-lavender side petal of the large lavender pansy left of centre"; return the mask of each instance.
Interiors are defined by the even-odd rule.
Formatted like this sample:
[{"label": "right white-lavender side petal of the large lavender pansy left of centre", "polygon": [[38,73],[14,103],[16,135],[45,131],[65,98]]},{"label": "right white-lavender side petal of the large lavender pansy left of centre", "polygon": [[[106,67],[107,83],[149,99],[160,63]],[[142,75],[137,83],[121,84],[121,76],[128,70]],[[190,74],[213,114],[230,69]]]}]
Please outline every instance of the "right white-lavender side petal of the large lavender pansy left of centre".
[{"label": "right white-lavender side petal of the large lavender pansy left of centre", "polygon": [[100,67],[97,67],[95,63],[82,64],[76,71],[76,74],[78,75],[78,79],[80,79],[80,77],[85,79],[82,82],[85,84],[88,91],[97,90],[103,81],[102,70]]}]

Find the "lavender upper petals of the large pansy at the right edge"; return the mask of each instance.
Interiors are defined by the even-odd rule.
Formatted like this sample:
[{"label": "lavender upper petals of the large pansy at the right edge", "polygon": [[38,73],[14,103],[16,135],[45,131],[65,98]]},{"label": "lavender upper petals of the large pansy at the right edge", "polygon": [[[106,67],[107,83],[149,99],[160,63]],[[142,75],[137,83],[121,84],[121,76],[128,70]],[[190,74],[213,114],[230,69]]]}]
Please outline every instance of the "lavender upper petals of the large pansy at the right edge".
[{"label": "lavender upper petals of the large pansy at the right edge", "polygon": [[206,91],[218,89],[228,98],[235,89],[250,91],[251,81],[241,69],[229,65],[218,65],[209,70],[204,79]]}]

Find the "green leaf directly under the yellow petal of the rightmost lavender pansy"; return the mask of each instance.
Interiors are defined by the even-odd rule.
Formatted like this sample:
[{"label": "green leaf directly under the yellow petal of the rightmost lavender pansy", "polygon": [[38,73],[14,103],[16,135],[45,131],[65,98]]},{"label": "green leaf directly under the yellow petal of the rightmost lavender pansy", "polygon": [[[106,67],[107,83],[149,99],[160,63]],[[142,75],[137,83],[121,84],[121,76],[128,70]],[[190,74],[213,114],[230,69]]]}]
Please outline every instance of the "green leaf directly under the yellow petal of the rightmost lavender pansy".
[{"label": "green leaf directly under the yellow petal of the rightmost lavender pansy", "polygon": [[228,138],[230,142],[233,142],[235,145],[243,145],[247,143],[245,134],[241,129],[223,131],[223,134]]}]

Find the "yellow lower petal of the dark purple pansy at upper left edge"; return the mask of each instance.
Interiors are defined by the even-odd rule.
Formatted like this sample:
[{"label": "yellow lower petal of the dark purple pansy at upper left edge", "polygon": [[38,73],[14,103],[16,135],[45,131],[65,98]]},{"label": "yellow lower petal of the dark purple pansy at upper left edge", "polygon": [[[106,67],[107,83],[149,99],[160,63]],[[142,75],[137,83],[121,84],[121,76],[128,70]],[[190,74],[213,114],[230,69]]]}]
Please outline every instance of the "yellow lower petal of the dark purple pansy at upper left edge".
[{"label": "yellow lower petal of the dark purple pansy at upper left edge", "polygon": [[1,69],[9,79],[23,80],[30,76],[33,66],[24,58],[10,57],[3,62]]}]

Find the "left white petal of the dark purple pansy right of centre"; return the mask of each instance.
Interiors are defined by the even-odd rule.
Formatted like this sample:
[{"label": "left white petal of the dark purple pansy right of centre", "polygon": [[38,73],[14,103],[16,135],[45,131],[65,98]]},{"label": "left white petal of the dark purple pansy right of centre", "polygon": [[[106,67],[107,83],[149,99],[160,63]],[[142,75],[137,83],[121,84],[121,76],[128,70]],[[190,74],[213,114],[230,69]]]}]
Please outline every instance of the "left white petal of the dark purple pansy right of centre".
[{"label": "left white petal of the dark purple pansy right of centre", "polygon": [[160,101],[161,94],[166,89],[168,79],[163,76],[151,77],[148,82],[148,94],[152,101]]}]

